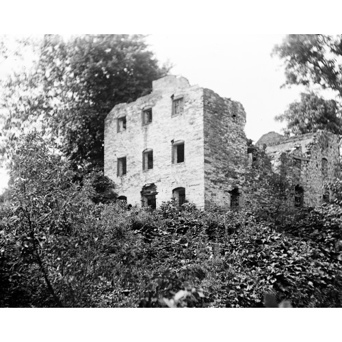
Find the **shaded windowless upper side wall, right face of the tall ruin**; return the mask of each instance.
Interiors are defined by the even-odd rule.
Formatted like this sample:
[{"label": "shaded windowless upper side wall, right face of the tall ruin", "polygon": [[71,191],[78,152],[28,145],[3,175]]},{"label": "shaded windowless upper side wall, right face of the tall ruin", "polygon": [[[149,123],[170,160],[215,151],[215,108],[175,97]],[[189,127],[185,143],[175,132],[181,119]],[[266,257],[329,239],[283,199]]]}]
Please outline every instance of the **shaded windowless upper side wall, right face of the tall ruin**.
[{"label": "shaded windowless upper side wall, right face of the tall ruin", "polygon": [[[230,192],[241,189],[247,161],[245,124],[241,103],[204,90],[205,207],[215,204],[228,209]],[[239,194],[241,207],[243,196]]]}]

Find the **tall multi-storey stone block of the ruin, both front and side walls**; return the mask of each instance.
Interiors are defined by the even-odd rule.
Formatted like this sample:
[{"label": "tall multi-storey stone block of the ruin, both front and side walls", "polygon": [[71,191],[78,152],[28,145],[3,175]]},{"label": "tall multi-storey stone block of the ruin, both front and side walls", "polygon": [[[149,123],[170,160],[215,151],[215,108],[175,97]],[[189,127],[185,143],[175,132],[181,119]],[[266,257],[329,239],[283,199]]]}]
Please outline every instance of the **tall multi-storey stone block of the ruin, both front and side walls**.
[{"label": "tall multi-storey stone block of the ruin, both front and side walls", "polygon": [[[174,107],[178,100],[181,110]],[[144,115],[150,109],[152,117],[146,123]],[[108,114],[105,174],[116,183],[118,196],[131,205],[144,206],[155,198],[159,206],[181,196],[181,188],[198,208],[229,207],[229,191],[237,172],[243,172],[233,161],[247,156],[245,122],[240,103],[190,86],[183,77],[163,77],[153,81],[151,94],[116,105]],[[184,146],[179,163],[173,160],[178,144]],[[144,170],[146,150],[153,150],[153,168]],[[124,158],[127,170],[120,175]]]}]

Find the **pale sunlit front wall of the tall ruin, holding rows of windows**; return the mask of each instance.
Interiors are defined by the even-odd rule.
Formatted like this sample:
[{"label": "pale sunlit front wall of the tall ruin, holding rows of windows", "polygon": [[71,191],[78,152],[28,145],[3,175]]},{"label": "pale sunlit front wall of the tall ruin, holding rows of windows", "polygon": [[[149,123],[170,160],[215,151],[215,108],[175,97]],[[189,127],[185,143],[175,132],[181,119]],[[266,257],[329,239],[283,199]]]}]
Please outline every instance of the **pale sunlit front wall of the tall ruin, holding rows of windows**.
[{"label": "pale sunlit front wall of the tall ruin, holding rows of windows", "polygon": [[[183,96],[183,114],[172,116],[172,97]],[[142,111],[152,108],[153,120],[142,124]],[[126,116],[126,129],[117,132],[117,119]],[[184,77],[153,82],[153,92],[133,103],[116,105],[105,120],[105,174],[119,196],[141,205],[144,185],[155,183],[157,206],[172,198],[172,189],[185,187],[186,199],[205,205],[203,90]],[[172,141],[185,142],[185,161],[172,163]],[[142,170],[142,152],[153,149],[153,169]],[[127,157],[127,174],[117,176],[117,159]]]}]

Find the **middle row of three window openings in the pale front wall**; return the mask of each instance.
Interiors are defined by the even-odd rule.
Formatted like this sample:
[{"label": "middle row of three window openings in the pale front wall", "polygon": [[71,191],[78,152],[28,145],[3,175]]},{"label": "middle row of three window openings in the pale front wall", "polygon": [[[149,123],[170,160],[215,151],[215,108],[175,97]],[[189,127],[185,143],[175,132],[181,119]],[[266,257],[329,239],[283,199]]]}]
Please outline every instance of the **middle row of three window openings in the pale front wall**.
[{"label": "middle row of three window openings in the pale front wall", "polygon": [[[183,163],[185,160],[184,141],[172,142],[172,164]],[[153,150],[147,148],[142,153],[142,170],[153,169]],[[118,158],[118,176],[127,174],[127,157]]]}]

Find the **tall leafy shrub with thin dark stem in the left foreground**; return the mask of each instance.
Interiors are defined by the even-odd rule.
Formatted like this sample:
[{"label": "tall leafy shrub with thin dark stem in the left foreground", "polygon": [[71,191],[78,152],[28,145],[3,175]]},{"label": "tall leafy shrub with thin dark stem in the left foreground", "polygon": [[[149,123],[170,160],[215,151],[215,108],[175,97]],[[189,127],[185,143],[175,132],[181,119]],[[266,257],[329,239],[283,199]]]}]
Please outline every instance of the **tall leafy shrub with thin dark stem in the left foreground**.
[{"label": "tall leafy shrub with thin dark stem in the left foreground", "polygon": [[98,208],[73,183],[70,164],[36,135],[14,148],[12,175],[11,206],[1,220],[4,295],[18,306],[25,297],[31,306],[91,305],[102,277],[118,265],[108,258]]}]

